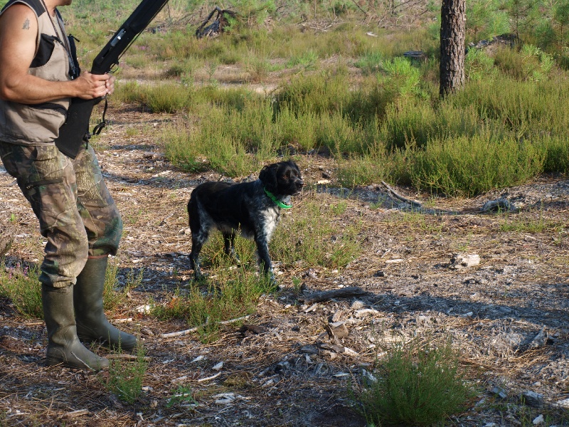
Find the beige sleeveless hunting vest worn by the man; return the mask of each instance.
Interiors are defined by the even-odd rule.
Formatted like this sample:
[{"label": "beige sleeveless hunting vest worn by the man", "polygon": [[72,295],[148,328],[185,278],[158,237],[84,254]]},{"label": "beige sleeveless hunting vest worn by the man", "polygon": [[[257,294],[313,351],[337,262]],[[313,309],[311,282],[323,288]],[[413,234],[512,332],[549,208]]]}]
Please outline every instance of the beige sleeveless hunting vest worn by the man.
[{"label": "beige sleeveless hunting vest worn by the man", "polygon": [[[59,12],[55,14],[59,24],[57,21],[54,24],[41,0],[10,0],[0,15],[15,3],[26,4],[38,17],[36,56],[30,64],[29,73],[51,81],[70,80],[69,56],[64,44],[67,43],[67,35]],[[54,26],[63,31],[61,36]],[[69,103],[70,98],[34,105],[0,100],[0,141],[21,145],[52,142],[65,122]]]}]

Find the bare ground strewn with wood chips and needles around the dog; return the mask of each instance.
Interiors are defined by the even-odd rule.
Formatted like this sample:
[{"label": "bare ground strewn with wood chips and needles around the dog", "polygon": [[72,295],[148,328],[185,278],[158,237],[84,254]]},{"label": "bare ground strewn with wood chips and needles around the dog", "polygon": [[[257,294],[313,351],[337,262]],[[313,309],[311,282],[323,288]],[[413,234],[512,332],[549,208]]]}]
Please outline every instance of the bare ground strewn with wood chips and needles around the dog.
[{"label": "bare ground strewn with wood chips and needles around the dog", "polygon": [[[105,389],[105,373],[44,367],[43,322],[0,299],[0,425],[361,427],[366,421],[347,390],[373,371],[393,337],[428,343],[447,336],[478,390],[450,424],[529,426],[539,415],[544,426],[566,423],[558,402],[569,397],[567,179],[542,176],[475,199],[394,186],[422,202],[424,209],[414,210],[381,183],[341,189],[333,160],[299,154],[305,193],[322,204],[342,199],[348,206],[342,221],[363,222],[361,256],[341,270],[282,270],[282,290],[261,297],[245,320],[260,329],[225,325],[209,343],[196,334],[165,338],[189,326],[156,320],[144,305],[191,283],[186,203],[196,184],[220,176],[188,174],[167,162],[154,131],[175,117],[120,106],[107,114],[113,124],[97,151],[124,218],[115,258],[120,282],[144,268],[142,285],[109,316],[139,333],[151,358],[142,396],[127,404]],[[323,179],[329,182],[317,184]],[[480,211],[499,197],[519,211]],[[5,266],[38,263],[43,244],[36,218],[4,169],[0,212],[0,226],[16,236]],[[506,223],[519,224],[519,231],[504,231]],[[479,255],[479,265],[454,268],[454,253]],[[293,276],[302,277],[304,292],[294,288]],[[352,286],[365,293],[304,302],[309,292]],[[344,322],[346,336],[326,333],[332,317]],[[172,399],[188,391],[195,401]],[[522,399],[527,391],[540,394],[543,405]]]}]

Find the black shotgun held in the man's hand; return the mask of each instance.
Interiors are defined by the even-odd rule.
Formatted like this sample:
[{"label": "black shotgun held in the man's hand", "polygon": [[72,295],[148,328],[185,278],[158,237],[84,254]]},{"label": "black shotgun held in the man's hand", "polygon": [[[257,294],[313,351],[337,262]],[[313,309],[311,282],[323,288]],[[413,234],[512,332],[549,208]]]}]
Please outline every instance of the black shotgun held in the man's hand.
[{"label": "black shotgun held in the man's hand", "polygon": [[[122,54],[127,51],[139,34],[144,31],[144,28],[147,28],[150,21],[154,19],[167,2],[168,0],[142,0],[137,9],[134,9],[131,16],[124,21],[115,35],[112,36],[107,45],[102,48],[102,51],[93,60],[91,73],[109,73],[112,67],[119,65],[119,58]],[[67,112],[67,120],[59,128],[59,136],[55,139],[55,145],[60,152],[75,159],[83,142],[89,142],[91,137],[89,132],[91,113],[93,107],[102,99],[102,97],[92,100],[83,100],[78,97],[72,98]],[[99,135],[103,127],[105,127],[105,113],[103,113],[103,121],[95,127],[93,134]]]}]

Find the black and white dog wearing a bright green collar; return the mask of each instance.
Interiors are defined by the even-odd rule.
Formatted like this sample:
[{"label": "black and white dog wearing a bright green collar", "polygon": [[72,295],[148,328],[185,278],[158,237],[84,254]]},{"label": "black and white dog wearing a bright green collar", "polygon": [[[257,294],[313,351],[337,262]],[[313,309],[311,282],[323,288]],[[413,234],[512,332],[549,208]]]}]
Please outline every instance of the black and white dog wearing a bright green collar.
[{"label": "black and white dog wearing a bright green collar", "polygon": [[297,164],[279,162],[262,168],[259,179],[241,184],[204,182],[194,189],[188,201],[191,229],[190,267],[196,279],[203,278],[199,254],[211,231],[223,233],[225,253],[238,260],[233,241],[239,232],[253,238],[260,267],[271,280],[269,241],[280,219],[281,209],[289,209],[290,196],[298,194],[304,182]]}]

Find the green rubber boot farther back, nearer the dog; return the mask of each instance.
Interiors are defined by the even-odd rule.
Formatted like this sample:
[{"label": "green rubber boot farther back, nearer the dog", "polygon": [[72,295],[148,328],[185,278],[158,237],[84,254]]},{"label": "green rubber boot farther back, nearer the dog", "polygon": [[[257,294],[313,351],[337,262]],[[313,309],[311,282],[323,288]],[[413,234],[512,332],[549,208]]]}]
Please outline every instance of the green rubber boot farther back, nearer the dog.
[{"label": "green rubber boot farther back, nearer the dog", "polygon": [[113,349],[130,352],[137,347],[137,338],[112,326],[102,307],[108,261],[108,256],[89,258],[77,276],[73,293],[77,334],[82,342],[102,342]]}]

